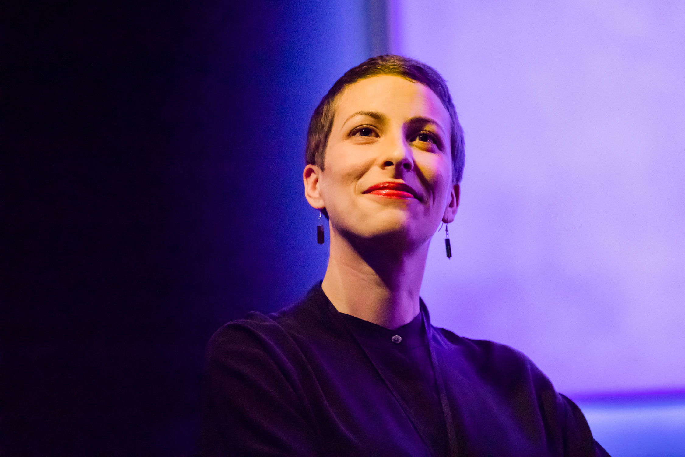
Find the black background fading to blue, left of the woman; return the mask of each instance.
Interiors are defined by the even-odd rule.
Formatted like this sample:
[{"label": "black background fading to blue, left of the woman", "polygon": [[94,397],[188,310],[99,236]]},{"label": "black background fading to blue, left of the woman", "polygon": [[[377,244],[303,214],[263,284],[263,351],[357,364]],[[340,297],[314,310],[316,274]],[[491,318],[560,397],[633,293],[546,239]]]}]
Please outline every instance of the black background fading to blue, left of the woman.
[{"label": "black background fading to blue, left of the woman", "polygon": [[195,454],[212,332],[323,277],[306,127],[382,3],[12,3],[0,455]]}]

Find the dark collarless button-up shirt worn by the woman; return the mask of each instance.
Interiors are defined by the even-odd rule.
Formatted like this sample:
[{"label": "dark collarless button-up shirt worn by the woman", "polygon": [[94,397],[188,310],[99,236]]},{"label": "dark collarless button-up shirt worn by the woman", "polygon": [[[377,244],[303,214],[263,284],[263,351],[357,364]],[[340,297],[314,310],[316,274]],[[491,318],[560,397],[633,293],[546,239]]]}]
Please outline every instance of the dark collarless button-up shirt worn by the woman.
[{"label": "dark collarless button-up shirt worn by the woman", "polygon": [[212,336],[201,447],[208,456],[607,455],[580,409],[520,352],[433,327],[423,301],[413,321],[388,330],[338,312],[321,283],[295,306],[251,312]]}]

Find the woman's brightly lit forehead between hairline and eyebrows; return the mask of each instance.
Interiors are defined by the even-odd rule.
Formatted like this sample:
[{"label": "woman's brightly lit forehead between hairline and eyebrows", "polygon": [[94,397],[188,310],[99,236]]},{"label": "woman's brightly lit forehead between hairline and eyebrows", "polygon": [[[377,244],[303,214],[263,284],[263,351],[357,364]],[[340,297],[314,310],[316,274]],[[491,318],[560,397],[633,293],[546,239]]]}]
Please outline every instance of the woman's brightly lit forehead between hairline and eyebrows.
[{"label": "woman's brightly lit forehead between hairline and eyebrows", "polygon": [[358,111],[376,111],[391,118],[429,117],[449,132],[449,113],[435,92],[399,76],[374,76],[347,86],[338,99],[334,123]]}]

